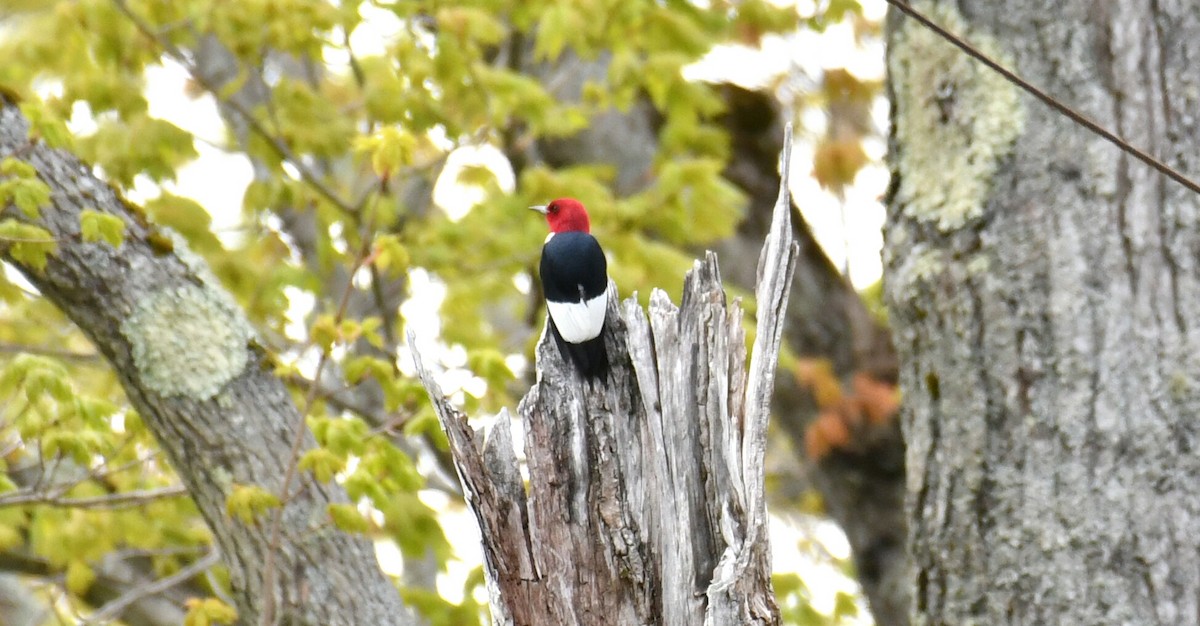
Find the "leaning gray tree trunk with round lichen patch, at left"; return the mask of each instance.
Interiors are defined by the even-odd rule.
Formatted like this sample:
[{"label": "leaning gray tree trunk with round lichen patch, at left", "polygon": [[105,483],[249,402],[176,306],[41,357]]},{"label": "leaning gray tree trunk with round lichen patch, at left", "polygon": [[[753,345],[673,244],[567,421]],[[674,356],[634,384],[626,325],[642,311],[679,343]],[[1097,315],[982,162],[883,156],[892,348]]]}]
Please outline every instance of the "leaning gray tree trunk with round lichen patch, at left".
[{"label": "leaning gray tree trunk with round lichen patch, at left", "polygon": [[[38,225],[58,241],[44,270],[14,260],[113,365],[125,392],[196,500],[229,567],[239,619],[257,624],[268,594],[284,624],[413,624],[368,541],[329,530],[336,484],[302,476],[284,494],[278,540],[268,518],[245,524],[226,502],[234,487],[282,492],[290,441],[304,420],[272,374],[245,317],[202,259],[124,201],[62,150],[28,139],[17,107],[0,108],[0,157],[31,163],[52,189]],[[84,243],[84,209],[125,223],[119,248]],[[22,218],[7,207],[4,217]],[[155,234],[157,236],[151,236]],[[167,239],[167,241],[170,241]],[[173,246],[173,248],[172,248]],[[304,447],[313,445],[305,433]],[[265,564],[274,589],[264,589]]]}]

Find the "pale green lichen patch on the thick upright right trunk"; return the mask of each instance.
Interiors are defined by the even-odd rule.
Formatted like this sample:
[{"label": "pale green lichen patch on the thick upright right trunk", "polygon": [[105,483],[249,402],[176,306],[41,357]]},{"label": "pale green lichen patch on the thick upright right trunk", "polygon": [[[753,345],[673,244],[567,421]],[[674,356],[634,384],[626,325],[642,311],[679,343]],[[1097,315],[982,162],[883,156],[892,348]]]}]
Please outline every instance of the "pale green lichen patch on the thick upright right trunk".
[{"label": "pale green lichen patch on the thick upright right trunk", "polygon": [[[972,30],[948,4],[913,6],[1012,67],[996,40]],[[961,228],[983,212],[1000,162],[1021,133],[1020,94],[913,20],[904,20],[894,35],[888,70],[900,146],[896,201],[908,216],[942,230]]]}]

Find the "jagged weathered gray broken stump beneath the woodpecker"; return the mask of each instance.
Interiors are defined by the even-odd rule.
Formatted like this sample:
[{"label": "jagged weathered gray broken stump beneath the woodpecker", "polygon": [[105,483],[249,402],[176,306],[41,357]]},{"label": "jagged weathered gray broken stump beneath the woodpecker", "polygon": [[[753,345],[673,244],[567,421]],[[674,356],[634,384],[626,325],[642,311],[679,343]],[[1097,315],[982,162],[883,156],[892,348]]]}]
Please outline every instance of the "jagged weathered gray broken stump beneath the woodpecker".
[{"label": "jagged weathered gray broken stump beneath the woodpecker", "polygon": [[[787,159],[785,148],[785,171]],[[779,622],[762,453],[797,255],[790,221],[785,176],[749,375],[742,307],[726,301],[712,253],[679,307],[660,290],[648,315],[636,297],[610,300],[606,385],[581,381],[541,338],[538,383],[518,407],[528,493],[508,417],[481,449],[415,355],[482,530],[498,624]]]}]

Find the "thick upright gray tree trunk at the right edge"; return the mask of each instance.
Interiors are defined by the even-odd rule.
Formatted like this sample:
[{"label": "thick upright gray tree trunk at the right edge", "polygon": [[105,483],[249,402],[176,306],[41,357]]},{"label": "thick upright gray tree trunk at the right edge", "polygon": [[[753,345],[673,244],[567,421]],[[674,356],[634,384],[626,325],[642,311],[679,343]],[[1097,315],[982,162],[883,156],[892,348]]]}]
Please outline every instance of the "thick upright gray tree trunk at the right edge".
[{"label": "thick upright gray tree trunk at the right edge", "polygon": [[[1200,171],[1196,2],[914,6]],[[892,26],[914,622],[1200,622],[1200,199]]]}]

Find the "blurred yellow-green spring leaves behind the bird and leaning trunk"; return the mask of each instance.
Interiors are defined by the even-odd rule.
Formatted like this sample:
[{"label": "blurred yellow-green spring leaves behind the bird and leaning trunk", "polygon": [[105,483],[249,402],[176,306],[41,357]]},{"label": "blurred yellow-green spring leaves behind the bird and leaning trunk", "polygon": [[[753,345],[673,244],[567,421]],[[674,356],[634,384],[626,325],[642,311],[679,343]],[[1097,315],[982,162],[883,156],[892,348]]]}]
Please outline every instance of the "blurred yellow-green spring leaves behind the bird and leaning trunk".
[{"label": "blurred yellow-green spring leaves behind the bird and leaning trunk", "polygon": [[[821,19],[856,6],[833,2]],[[396,445],[425,450],[425,462],[442,445],[424,392],[403,374],[397,308],[409,277],[421,271],[444,284],[440,338],[463,355],[446,365],[486,383],[484,397],[461,395],[466,410],[512,404],[521,385],[508,356],[530,354],[541,319],[538,299],[516,287],[532,278],[545,233],[524,207],[578,197],[623,293],[677,291],[690,251],[731,235],[743,211],[742,193],[721,175],[722,102],[682,71],[715,44],[757,42],[802,22],[766,0],[25,0],[4,11],[20,26],[0,38],[0,86],[24,98],[31,140],[73,146],[118,191],[142,198],[149,242],[203,258],[246,311],[318,443],[296,469],[341,482],[353,499],[329,510],[329,524],[394,541],[406,558],[432,555],[440,570],[454,553],[421,496],[419,459]],[[808,25],[823,28],[816,18]],[[383,46],[355,49],[373,28],[391,29]],[[540,73],[569,59],[606,64],[574,100]],[[164,67],[188,73],[191,97],[218,103],[223,136],[199,137],[158,115],[148,73]],[[662,125],[653,175],[634,193],[613,191],[608,167],[552,164],[529,150],[640,98]],[[253,164],[241,206],[170,192],[203,144]],[[455,150],[478,146],[508,157],[515,188],[478,165],[448,169]],[[839,163],[830,180],[860,167]],[[433,201],[451,174],[480,194],[464,216]],[[20,217],[0,222],[0,245],[35,267],[56,249],[28,223],[48,199],[19,158],[0,163],[0,201]],[[235,233],[214,230],[214,215],[233,213]],[[79,227],[96,245],[130,236],[121,219],[96,211]],[[0,361],[0,548],[29,550],[60,572],[76,608],[91,567],[114,550],[155,554],[160,574],[203,555],[208,531],[170,490],[178,480],[114,373],[11,275],[0,276],[0,344],[18,353]],[[144,498],[118,500],[128,494]],[[72,506],[84,500],[122,504]],[[239,484],[227,507],[256,524],[280,502],[263,486]],[[191,584],[220,597],[220,580]],[[462,604],[427,589],[404,594],[433,622],[468,624],[479,619],[470,598],[481,579],[468,583]],[[187,622],[229,622],[230,610],[194,601]]]}]

